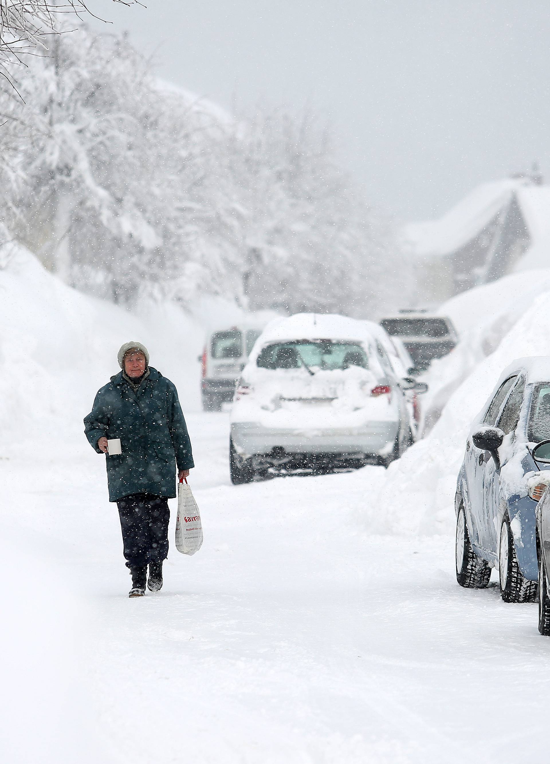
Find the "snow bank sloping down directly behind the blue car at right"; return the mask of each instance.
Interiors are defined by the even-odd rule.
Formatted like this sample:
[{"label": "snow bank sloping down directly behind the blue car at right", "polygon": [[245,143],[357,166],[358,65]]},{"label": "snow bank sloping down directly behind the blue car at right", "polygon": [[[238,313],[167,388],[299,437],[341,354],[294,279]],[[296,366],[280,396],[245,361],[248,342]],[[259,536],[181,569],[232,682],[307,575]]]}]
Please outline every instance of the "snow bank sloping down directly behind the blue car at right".
[{"label": "snow bank sloping down directly behind the blue car at right", "polygon": [[[514,359],[550,356],[550,291],[534,300],[499,347],[455,390],[429,435],[366,485],[366,521],[373,533],[452,533],[456,479],[471,421]],[[367,479],[365,481],[367,483]]]}]

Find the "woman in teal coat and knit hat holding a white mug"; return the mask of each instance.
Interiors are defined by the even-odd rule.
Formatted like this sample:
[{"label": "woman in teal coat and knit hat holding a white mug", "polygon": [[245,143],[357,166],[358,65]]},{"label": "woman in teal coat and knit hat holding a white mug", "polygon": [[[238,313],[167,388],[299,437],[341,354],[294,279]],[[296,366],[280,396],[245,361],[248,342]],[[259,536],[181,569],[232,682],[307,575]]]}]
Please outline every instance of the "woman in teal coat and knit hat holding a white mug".
[{"label": "woman in teal coat and knit hat holding a white mug", "polygon": [[118,364],[122,371],[99,390],[84,425],[92,448],[106,455],[109,501],[118,505],[132,577],[130,597],[143,597],[146,585],[159,591],[163,584],[167,499],[176,496],[176,465],[182,480],[194,464],[176,387],[149,366],[147,348],[126,342]]}]

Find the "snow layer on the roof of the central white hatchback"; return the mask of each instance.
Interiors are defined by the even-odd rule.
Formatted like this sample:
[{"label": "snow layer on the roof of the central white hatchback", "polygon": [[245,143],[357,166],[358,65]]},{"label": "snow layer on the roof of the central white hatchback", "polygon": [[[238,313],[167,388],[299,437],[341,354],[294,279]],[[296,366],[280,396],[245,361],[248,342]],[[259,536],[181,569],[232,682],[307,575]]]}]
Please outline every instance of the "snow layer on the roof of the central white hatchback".
[{"label": "snow layer on the roof of the central white hatchback", "polygon": [[293,339],[366,340],[381,327],[370,321],[349,319],[347,316],[320,313],[296,313],[286,319],[275,319],[264,329],[261,345],[287,342]]}]

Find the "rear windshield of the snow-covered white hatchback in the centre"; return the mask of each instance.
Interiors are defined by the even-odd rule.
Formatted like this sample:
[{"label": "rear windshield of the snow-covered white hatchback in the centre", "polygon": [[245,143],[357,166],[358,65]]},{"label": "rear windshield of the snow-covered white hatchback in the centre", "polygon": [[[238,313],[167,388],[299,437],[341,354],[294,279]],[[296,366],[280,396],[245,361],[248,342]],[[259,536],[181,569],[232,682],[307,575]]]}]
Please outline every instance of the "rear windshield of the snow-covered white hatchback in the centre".
[{"label": "rear windshield of the snow-covered white hatchback in the centre", "polygon": [[354,342],[332,340],[296,340],[267,345],[257,358],[262,369],[312,369],[368,368],[367,353]]}]

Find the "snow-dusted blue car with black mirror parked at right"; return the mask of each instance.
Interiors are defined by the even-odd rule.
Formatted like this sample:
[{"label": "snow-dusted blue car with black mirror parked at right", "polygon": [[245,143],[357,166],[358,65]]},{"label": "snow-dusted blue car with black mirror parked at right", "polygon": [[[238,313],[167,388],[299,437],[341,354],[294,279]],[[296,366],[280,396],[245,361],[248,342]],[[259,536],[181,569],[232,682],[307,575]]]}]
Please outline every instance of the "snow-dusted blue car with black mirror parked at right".
[{"label": "snow-dusted blue car with black mirror parked at right", "polygon": [[503,372],[474,420],[455,497],[456,575],[484,588],[498,566],[505,602],[534,602],[539,578],[535,510],[550,462],[533,458],[550,439],[550,358],[520,358]]}]

